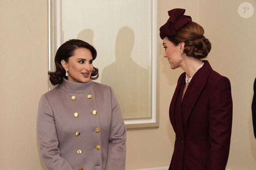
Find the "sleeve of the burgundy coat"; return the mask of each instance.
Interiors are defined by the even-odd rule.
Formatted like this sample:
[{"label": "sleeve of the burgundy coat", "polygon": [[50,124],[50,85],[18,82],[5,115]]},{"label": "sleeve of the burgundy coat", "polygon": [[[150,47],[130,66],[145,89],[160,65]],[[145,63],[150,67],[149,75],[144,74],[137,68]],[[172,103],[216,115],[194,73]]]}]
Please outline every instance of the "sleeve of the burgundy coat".
[{"label": "sleeve of the burgundy coat", "polygon": [[207,170],[225,170],[230,150],[232,97],[230,81],[218,78],[209,98],[210,152]]}]

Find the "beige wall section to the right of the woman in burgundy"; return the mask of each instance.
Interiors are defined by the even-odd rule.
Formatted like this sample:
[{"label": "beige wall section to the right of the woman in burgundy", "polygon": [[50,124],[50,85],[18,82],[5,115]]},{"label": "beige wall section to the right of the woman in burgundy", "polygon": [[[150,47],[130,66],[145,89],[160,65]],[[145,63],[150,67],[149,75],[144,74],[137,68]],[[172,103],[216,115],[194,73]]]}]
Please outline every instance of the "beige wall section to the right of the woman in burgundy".
[{"label": "beige wall section to the right of the woman in burgundy", "polygon": [[[231,81],[233,132],[227,167],[254,170],[256,140],[252,129],[251,104],[256,77],[256,11],[251,18],[241,18],[237,7],[244,0],[217,1],[219,3],[216,4],[211,4],[210,0],[200,3],[200,22],[213,44],[209,56],[212,67]],[[246,2],[250,2],[256,10],[256,0]]]}]

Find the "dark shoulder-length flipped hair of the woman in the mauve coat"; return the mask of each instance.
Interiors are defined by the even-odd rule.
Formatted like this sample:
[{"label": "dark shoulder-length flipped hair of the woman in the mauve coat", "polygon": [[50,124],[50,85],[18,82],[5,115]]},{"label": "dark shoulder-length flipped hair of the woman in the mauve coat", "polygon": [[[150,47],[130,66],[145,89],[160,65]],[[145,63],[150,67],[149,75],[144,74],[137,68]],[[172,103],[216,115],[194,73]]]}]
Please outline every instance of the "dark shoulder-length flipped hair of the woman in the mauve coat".
[{"label": "dark shoulder-length flipped hair of the woman in the mauve coat", "polygon": [[[75,39],[65,42],[60,46],[60,48],[58,48],[55,55],[54,63],[55,63],[56,71],[48,72],[49,79],[52,85],[58,85],[62,83],[63,78],[67,79],[67,76],[65,75],[66,70],[62,67],[61,60],[64,59],[68,63],[69,57],[74,55],[75,50],[78,48],[89,49],[92,54],[92,59],[93,60],[96,59],[97,52],[95,48],[90,44],[88,44],[87,42],[82,40],[75,40]],[[98,77],[99,77],[98,68],[93,67],[93,71],[91,73],[90,78],[92,80],[96,80]]]}]

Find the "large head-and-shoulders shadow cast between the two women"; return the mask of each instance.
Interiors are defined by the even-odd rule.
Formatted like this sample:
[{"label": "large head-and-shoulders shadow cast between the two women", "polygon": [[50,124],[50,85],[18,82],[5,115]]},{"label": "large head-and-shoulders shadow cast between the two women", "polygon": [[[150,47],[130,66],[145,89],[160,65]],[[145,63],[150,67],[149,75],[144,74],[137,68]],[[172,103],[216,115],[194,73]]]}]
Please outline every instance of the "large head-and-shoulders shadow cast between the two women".
[{"label": "large head-and-shoulders shadow cast between the two women", "polygon": [[150,117],[150,73],[132,60],[134,41],[131,28],[124,26],[119,30],[116,60],[102,70],[101,76],[102,83],[113,87],[124,119]]}]

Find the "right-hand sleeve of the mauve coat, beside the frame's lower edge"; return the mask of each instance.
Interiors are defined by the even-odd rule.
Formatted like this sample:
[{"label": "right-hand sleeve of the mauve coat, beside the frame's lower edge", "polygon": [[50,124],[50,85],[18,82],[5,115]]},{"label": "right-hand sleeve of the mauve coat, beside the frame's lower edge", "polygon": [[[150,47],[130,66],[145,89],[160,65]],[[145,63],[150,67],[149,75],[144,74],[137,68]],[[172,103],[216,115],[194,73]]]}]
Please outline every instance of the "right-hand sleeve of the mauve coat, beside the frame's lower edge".
[{"label": "right-hand sleeve of the mauve coat, beside the frame's lower edge", "polygon": [[112,122],[109,133],[108,158],[105,170],[125,170],[126,127],[117,99],[111,90]]}]

